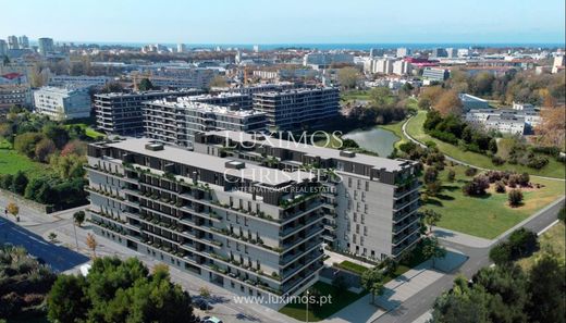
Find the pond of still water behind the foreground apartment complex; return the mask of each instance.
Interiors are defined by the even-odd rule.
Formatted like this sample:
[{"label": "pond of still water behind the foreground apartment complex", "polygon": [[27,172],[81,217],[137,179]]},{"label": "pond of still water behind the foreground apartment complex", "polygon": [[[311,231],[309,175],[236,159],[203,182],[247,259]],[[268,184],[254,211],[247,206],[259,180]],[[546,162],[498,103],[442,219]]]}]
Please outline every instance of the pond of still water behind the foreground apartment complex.
[{"label": "pond of still water behind the foreground apartment complex", "polygon": [[366,131],[353,131],[345,134],[343,138],[352,139],[356,141],[359,147],[377,152],[380,157],[390,156],[393,152],[395,142],[401,139],[392,132],[378,127]]}]

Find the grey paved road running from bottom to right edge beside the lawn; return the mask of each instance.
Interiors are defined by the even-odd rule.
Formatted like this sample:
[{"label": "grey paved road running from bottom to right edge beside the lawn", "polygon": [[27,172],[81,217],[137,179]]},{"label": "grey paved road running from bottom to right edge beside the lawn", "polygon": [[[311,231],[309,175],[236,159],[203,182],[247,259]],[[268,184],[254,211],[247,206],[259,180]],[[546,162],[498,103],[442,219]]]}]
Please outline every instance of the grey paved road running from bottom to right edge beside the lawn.
[{"label": "grey paved road running from bottom to right edge beside the lawn", "polygon": [[[531,216],[525,221],[525,223],[520,223],[519,226],[528,228],[532,232],[541,232],[556,220],[558,211],[563,204],[564,198],[562,198],[561,201],[557,201],[542,210],[536,216]],[[505,232],[496,239],[494,239],[492,245],[506,239],[512,232],[513,229]],[[463,244],[446,240],[442,240],[442,244],[446,248],[455,249],[467,254],[469,257],[468,261],[466,261],[457,271],[447,273],[433,284],[429,285],[403,302],[401,307],[373,321],[373,323],[410,323],[429,311],[434,305],[434,300],[439,295],[441,295],[444,290],[452,288],[454,278],[457,275],[463,274],[470,278],[480,269],[491,264],[489,259],[491,246],[485,248],[472,248]]]}]

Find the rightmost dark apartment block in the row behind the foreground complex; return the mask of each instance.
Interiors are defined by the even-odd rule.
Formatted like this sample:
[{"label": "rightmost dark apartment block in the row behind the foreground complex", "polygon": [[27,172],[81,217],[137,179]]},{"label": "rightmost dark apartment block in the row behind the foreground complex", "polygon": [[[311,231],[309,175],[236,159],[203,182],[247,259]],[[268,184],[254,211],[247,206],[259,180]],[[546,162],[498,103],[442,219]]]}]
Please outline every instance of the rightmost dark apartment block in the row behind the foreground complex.
[{"label": "rightmost dark apartment block in the row behind the foreground complex", "polygon": [[254,94],[254,109],[264,112],[268,126],[279,131],[299,131],[316,127],[337,116],[337,88],[300,88]]}]

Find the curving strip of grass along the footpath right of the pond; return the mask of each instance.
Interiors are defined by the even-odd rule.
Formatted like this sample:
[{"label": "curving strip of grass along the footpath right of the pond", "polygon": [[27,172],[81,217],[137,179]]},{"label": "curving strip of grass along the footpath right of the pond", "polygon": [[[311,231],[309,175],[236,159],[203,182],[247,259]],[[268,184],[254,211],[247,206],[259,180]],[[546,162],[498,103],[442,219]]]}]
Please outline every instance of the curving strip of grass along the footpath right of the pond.
[{"label": "curving strip of grass along the footpath right of the pond", "polygon": [[501,166],[496,166],[491,162],[491,158],[489,158],[485,154],[476,153],[471,151],[463,151],[454,145],[446,144],[424,134],[422,129],[422,124],[424,123],[426,119],[427,112],[420,110],[418,114],[407,123],[407,133],[421,142],[426,142],[429,140],[434,141],[442,152],[452,158],[476,165],[478,167],[490,170],[514,171],[518,173],[529,173],[531,175],[547,176],[555,178],[564,178],[566,176],[564,164],[557,162],[554,158],[549,158],[549,164],[544,166],[542,170],[534,170],[518,164],[512,165],[508,163],[505,163]]}]

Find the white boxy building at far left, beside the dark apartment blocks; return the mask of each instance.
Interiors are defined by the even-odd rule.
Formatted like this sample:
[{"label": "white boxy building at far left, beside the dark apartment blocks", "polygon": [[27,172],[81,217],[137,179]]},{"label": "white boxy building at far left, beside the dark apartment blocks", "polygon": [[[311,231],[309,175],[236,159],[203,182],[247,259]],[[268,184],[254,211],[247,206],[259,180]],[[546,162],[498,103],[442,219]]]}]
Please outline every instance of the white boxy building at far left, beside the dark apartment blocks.
[{"label": "white boxy building at far left, beside the dark apartment blocks", "polygon": [[86,88],[45,86],[34,91],[35,111],[52,120],[90,116],[90,96]]}]

